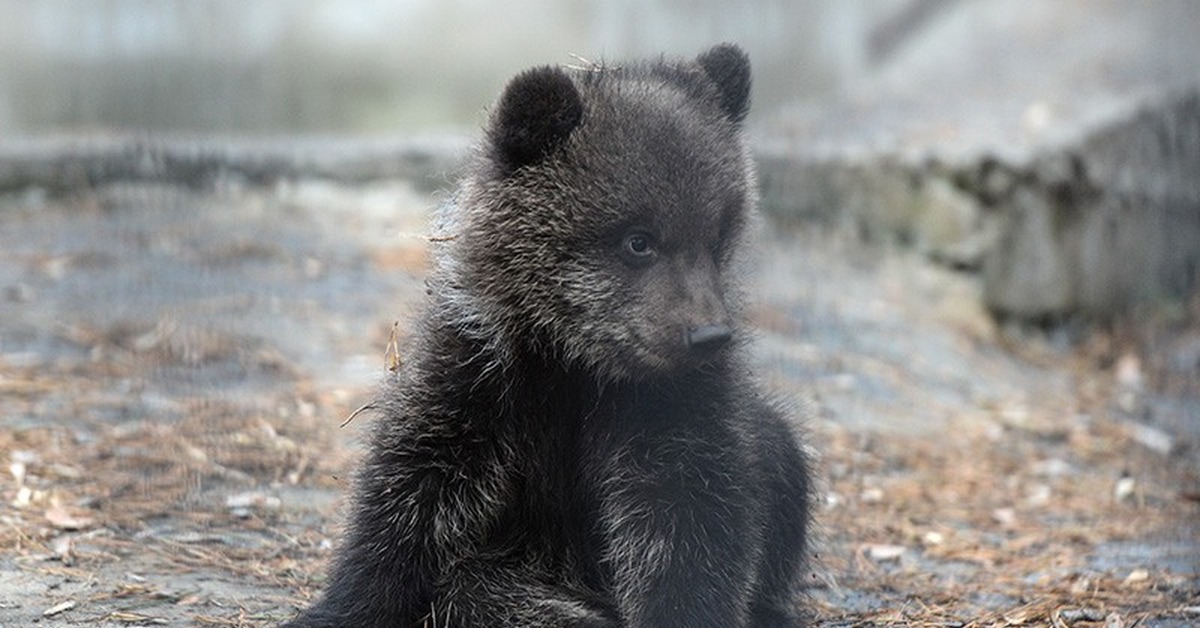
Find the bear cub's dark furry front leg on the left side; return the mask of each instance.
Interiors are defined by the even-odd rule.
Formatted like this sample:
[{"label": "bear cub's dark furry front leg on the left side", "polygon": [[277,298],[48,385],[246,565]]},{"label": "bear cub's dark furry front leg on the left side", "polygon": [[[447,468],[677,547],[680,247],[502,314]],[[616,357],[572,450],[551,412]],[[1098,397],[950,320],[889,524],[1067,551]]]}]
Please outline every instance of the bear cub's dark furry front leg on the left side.
[{"label": "bear cub's dark furry front leg on the left side", "polygon": [[424,419],[380,418],[325,593],[286,628],[421,626],[448,564],[478,552],[514,491],[506,449]]}]

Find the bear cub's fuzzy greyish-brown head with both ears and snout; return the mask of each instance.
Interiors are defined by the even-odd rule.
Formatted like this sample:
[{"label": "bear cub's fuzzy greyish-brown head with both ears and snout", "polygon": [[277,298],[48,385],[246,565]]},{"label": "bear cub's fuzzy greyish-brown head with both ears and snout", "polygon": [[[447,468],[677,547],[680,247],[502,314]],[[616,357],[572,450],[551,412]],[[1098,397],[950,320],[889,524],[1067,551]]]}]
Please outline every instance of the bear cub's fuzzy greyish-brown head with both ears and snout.
[{"label": "bear cub's fuzzy greyish-brown head with both ears and snout", "polygon": [[463,327],[601,379],[721,359],[755,203],[749,102],[749,60],[730,44],[514,78],[449,217],[442,268],[469,304]]}]

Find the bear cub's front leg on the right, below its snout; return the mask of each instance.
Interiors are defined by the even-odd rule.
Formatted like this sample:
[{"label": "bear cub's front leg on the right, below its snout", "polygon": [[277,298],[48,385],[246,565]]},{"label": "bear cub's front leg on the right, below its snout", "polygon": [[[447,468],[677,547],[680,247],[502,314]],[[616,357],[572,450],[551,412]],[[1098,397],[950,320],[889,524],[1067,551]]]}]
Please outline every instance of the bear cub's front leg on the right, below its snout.
[{"label": "bear cub's front leg on the right, below its snout", "polygon": [[761,515],[746,454],[721,436],[640,435],[602,467],[604,561],[629,628],[746,624]]}]

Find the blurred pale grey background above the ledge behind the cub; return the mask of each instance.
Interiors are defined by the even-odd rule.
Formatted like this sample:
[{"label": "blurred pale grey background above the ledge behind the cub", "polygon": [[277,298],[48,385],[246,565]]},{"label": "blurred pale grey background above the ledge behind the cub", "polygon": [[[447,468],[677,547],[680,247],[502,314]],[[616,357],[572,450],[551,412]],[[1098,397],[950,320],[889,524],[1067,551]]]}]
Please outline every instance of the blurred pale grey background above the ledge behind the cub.
[{"label": "blurred pale grey background above the ledge behind the cub", "polygon": [[1020,83],[1052,97],[1195,79],[1200,29],[1187,0],[4,0],[0,10],[5,136],[473,130],[523,67],[690,56],[720,41],[750,53],[758,116],[880,84],[1003,96]]}]

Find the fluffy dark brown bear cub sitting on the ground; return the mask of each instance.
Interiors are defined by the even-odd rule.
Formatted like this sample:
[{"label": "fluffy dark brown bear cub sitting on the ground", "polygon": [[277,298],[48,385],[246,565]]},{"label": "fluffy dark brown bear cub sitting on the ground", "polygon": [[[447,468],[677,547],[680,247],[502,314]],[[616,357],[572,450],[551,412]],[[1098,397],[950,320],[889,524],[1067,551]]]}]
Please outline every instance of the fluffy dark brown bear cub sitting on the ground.
[{"label": "fluffy dark brown bear cub sitting on the ground", "polygon": [[749,96],[727,44],[509,83],[288,626],[798,624],[809,468],[739,318]]}]

